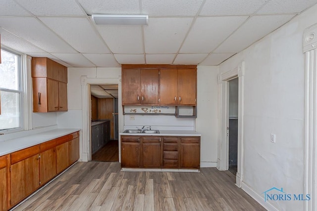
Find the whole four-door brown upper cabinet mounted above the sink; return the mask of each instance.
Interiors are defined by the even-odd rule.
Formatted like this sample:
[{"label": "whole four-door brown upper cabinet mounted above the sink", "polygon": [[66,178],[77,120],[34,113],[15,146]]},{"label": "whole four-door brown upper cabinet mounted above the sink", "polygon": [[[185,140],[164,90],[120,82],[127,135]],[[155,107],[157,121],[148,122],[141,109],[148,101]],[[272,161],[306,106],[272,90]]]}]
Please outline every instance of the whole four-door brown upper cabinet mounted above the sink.
[{"label": "whole four-door brown upper cabinet mounted above the sink", "polygon": [[196,106],[196,65],[122,65],[122,105]]}]

